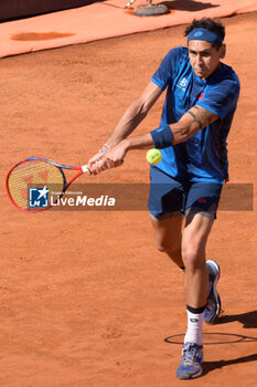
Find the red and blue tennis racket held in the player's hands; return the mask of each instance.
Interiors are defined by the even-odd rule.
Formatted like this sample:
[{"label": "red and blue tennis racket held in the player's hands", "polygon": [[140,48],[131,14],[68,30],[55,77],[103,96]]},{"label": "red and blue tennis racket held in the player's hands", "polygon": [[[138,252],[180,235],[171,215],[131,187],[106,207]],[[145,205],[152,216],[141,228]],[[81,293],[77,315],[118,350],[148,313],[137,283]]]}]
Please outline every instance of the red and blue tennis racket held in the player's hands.
[{"label": "red and blue tennis racket held in the player's hands", "polygon": [[[65,169],[76,170],[77,174],[67,181]],[[15,164],[10,169],[6,181],[7,191],[11,202],[20,210],[40,212],[51,208],[46,200],[50,187],[53,192],[52,202],[56,202],[68,186],[87,171],[86,165],[71,167],[46,158],[32,157]]]}]

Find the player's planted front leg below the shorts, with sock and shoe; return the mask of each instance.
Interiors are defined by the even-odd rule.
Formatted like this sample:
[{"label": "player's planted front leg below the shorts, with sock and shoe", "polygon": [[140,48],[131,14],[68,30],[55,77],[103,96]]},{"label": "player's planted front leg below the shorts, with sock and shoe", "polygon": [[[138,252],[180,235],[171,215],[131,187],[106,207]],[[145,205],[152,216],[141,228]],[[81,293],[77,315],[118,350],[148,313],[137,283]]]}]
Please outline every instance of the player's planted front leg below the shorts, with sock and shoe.
[{"label": "player's planted front leg below the shorts, with sock and shoe", "polygon": [[184,292],[188,330],[182,357],[176,369],[181,379],[195,378],[202,374],[203,321],[208,292],[208,274],[205,247],[213,219],[202,213],[189,213],[182,234],[182,260],[185,268]]}]

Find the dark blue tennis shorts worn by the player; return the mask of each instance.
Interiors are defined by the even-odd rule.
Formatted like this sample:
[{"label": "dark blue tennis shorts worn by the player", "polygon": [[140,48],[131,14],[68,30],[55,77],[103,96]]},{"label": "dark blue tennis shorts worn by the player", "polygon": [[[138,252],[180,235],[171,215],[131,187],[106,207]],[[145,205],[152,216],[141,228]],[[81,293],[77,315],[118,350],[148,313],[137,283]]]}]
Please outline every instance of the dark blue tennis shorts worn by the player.
[{"label": "dark blue tennis shorts worn by the player", "polygon": [[153,219],[169,219],[189,210],[216,218],[222,184],[178,180],[153,166],[150,182],[148,208]]}]

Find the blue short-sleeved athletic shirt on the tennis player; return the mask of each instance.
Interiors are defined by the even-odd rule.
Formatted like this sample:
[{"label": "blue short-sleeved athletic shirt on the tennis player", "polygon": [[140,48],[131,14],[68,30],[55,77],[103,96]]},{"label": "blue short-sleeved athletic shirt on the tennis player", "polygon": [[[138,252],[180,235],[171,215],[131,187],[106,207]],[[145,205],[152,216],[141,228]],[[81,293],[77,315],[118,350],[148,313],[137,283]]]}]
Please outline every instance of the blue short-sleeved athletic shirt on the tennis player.
[{"label": "blue short-sleeved athletic shirt on the tennis player", "polygon": [[226,139],[240,88],[233,69],[221,63],[219,70],[201,80],[194,74],[188,49],[179,46],[165,55],[151,81],[162,91],[168,87],[160,127],[176,123],[194,105],[218,116],[186,142],[161,149],[158,168],[189,181],[228,179]]}]

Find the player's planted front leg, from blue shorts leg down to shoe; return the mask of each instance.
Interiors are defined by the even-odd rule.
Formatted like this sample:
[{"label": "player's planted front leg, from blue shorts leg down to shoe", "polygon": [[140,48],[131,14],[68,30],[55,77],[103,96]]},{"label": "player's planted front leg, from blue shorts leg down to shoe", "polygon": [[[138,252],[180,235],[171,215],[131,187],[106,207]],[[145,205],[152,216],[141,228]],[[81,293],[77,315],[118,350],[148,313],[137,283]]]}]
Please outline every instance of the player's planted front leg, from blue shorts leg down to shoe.
[{"label": "player's planted front leg, from blue shorts leg down to shoe", "polygon": [[[208,302],[208,270],[205,247],[216,217],[222,185],[191,184],[186,192],[182,259],[185,266],[188,331],[176,376],[182,379],[202,374],[203,321]],[[217,308],[217,305],[214,305]]]}]

